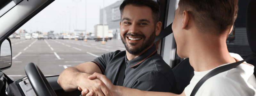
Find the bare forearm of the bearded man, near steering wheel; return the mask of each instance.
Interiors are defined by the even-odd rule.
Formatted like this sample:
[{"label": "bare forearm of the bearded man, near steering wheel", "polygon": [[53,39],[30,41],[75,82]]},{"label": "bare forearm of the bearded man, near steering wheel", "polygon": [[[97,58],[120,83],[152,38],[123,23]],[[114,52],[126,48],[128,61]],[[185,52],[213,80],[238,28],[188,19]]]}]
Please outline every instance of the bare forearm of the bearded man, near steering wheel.
[{"label": "bare forearm of the bearded man, near steering wheel", "polygon": [[86,74],[80,72],[77,68],[68,67],[60,74],[58,83],[63,90],[74,91],[78,87],[77,81],[79,81],[81,75]]}]

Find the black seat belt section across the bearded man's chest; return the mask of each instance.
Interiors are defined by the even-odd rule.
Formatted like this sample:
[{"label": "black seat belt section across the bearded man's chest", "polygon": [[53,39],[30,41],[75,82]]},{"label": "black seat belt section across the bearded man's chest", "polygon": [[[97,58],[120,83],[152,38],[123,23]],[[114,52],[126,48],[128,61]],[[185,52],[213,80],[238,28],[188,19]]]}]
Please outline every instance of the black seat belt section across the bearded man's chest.
[{"label": "black seat belt section across the bearded man's chest", "polygon": [[124,63],[121,65],[121,68],[120,68],[120,71],[119,71],[119,76],[118,76],[118,79],[117,79],[117,85],[118,86],[123,86],[123,84],[124,84],[125,68],[126,68],[126,64],[125,64],[125,61],[124,61]]}]

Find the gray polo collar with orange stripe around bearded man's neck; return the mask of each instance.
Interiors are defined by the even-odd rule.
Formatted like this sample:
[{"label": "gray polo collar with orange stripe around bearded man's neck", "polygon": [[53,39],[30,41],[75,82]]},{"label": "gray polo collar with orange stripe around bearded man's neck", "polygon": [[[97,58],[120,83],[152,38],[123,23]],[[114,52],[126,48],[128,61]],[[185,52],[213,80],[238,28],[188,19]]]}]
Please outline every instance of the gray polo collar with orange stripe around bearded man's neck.
[{"label": "gray polo collar with orange stripe around bearded man's neck", "polygon": [[151,48],[149,48],[146,52],[142,53],[139,57],[134,58],[132,60],[128,60],[125,54],[125,63],[128,64],[130,68],[133,68],[139,66],[143,61],[153,56],[155,53],[157,53],[157,51],[156,44],[154,43],[154,45]]}]

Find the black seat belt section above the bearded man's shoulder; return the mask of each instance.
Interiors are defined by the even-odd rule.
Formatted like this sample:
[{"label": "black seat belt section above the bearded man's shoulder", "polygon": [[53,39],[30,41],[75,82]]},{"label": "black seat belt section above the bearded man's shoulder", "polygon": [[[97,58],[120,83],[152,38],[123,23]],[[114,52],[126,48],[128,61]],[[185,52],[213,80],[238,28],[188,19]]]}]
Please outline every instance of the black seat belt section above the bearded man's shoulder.
[{"label": "black seat belt section above the bearded man's shoulder", "polygon": [[158,40],[163,39],[164,37],[170,35],[172,33],[172,23],[170,25],[168,25],[166,28],[164,28],[158,36],[156,36],[155,38],[155,42]]}]

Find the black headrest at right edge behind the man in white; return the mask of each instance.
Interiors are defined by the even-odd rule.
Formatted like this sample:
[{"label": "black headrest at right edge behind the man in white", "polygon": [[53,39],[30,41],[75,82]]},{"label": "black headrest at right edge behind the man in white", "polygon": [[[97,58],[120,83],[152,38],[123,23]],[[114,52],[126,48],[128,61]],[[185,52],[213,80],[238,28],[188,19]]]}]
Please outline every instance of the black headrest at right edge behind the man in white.
[{"label": "black headrest at right edge behind the man in white", "polygon": [[256,54],[256,0],[251,0],[246,12],[246,32],[248,43],[253,53]]}]

